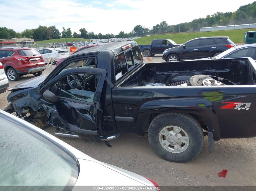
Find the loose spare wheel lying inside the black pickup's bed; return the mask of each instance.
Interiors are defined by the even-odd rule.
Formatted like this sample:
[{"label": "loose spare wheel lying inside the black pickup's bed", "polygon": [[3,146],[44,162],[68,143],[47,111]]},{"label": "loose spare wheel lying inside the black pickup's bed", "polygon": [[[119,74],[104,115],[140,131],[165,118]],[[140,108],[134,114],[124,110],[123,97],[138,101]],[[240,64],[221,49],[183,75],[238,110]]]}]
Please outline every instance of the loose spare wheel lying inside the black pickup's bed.
[{"label": "loose spare wheel lying inside the black pickup's bed", "polygon": [[219,85],[225,85],[222,82],[215,80],[211,78],[208,75],[194,75],[192,76],[187,86],[219,86]]}]

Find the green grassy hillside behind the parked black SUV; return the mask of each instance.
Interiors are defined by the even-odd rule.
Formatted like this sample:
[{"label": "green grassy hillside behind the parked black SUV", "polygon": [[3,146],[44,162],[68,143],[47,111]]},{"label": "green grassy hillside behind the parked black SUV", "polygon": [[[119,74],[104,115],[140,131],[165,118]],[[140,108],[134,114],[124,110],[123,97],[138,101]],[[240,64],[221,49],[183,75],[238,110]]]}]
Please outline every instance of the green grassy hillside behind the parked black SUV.
[{"label": "green grassy hillside behind the parked black SUV", "polygon": [[229,37],[234,43],[244,43],[244,33],[247,31],[256,31],[254,29],[239,29],[239,30],[220,30],[209,32],[194,32],[194,33],[170,33],[159,34],[148,37],[135,39],[138,44],[150,44],[153,39],[171,39],[176,43],[185,43],[188,40],[199,37]]}]

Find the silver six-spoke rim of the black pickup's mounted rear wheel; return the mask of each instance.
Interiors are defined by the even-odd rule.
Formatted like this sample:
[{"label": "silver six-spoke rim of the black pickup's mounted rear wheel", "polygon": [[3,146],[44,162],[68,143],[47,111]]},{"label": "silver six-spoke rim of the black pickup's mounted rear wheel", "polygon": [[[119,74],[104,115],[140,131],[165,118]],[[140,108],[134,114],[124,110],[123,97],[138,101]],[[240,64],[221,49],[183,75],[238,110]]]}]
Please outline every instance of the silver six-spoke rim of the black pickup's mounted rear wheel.
[{"label": "silver six-spoke rim of the black pickup's mounted rear wheel", "polygon": [[178,126],[166,126],[158,135],[161,146],[171,153],[184,152],[189,145],[189,137],[184,129]]}]

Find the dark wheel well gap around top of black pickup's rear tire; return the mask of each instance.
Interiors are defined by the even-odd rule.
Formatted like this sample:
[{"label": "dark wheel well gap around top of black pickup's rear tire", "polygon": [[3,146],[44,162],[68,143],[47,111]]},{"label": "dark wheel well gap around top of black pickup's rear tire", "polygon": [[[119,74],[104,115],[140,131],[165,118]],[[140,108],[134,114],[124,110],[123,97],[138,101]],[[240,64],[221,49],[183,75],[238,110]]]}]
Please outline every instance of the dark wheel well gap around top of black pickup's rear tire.
[{"label": "dark wheel well gap around top of black pickup's rear tire", "polygon": [[[167,112],[167,113],[175,113],[175,112]],[[144,123],[143,123],[142,131],[147,132],[151,122],[153,121],[153,119],[155,119],[155,117],[160,115],[160,114],[163,114],[163,113],[153,113],[150,117],[147,117],[145,119]],[[208,131],[206,123],[204,122],[204,120],[200,116],[192,114],[192,113],[180,113],[180,114],[193,116],[198,121],[198,123],[201,125],[202,129]]]}]

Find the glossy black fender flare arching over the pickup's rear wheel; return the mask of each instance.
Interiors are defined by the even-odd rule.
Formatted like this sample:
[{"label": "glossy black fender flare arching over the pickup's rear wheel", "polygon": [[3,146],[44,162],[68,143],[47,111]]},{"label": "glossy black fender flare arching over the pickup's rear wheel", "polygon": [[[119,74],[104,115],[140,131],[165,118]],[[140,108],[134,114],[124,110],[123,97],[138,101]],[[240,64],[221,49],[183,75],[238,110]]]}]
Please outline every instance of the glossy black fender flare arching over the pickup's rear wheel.
[{"label": "glossy black fender flare arching over the pickup's rear wheel", "polygon": [[220,140],[218,117],[212,103],[203,98],[172,98],[151,100],[141,105],[135,122],[135,132],[143,135],[145,120],[151,119],[153,114],[187,113],[200,116],[207,125],[208,131],[213,133],[214,141]]}]

